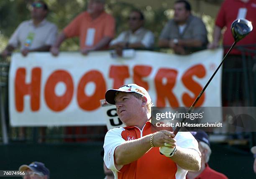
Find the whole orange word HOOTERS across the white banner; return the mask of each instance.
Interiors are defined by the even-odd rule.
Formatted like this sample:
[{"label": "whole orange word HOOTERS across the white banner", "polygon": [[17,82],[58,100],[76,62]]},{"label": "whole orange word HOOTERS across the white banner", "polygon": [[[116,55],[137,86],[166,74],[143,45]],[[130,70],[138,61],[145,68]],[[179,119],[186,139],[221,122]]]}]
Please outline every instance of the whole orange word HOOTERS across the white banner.
[{"label": "whole orange word HOOTERS across the white banner", "polygon": [[[149,90],[149,82],[145,82],[142,79],[144,77],[148,77],[152,69],[153,67],[151,66],[134,66],[133,74],[131,74],[134,82],[143,86],[146,90]],[[130,80],[131,77],[129,72],[130,69],[128,66],[110,66],[109,77],[113,79],[112,88],[119,88],[124,84],[126,79],[129,78]],[[31,82],[29,83],[26,83],[26,73],[25,68],[18,68],[16,69],[14,77],[14,100],[15,108],[18,112],[22,112],[24,110],[24,96],[26,95],[30,96],[31,111],[40,110],[40,104],[44,104],[44,102],[40,102],[41,96],[44,96],[42,99],[45,100],[47,107],[53,111],[65,110],[73,100],[74,96],[76,96],[76,99],[74,99],[77,101],[76,104],[82,110],[97,110],[100,107],[99,101],[104,99],[105,92],[107,90],[103,74],[97,70],[87,71],[84,75],[81,75],[80,80],[73,79],[72,75],[65,70],[57,70],[52,72],[52,74],[44,80],[46,81],[45,84],[41,84],[41,68],[35,67],[31,69]],[[180,101],[182,101],[184,106],[190,106],[202,90],[201,85],[195,81],[193,77],[196,76],[197,78],[204,78],[206,75],[206,69],[202,64],[197,64],[187,69],[184,74],[180,74],[179,76],[182,77],[180,82],[178,82],[178,88],[186,91],[180,91],[178,95],[175,95],[173,90],[175,85],[177,85],[177,75],[177,70],[169,68],[160,68],[156,72],[156,76],[154,78],[156,106],[164,107],[166,105],[170,105],[172,107],[178,107],[180,105],[177,100],[178,97],[181,98]],[[79,81],[77,88],[74,87],[74,81]],[[57,95],[55,93],[56,85],[59,82],[63,82],[66,87],[63,95]],[[93,85],[89,85],[87,87],[87,84]],[[180,84],[183,84],[186,89],[184,89]],[[127,87],[127,90],[131,88],[131,86],[125,86]],[[41,89],[44,90],[41,92]],[[187,90],[189,90],[192,95],[191,93],[188,93]],[[136,89],[136,92],[145,95],[145,93],[140,89]],[[204,101],[205,94],[203,94],[197,102],[197,106],[201,106]],[[166,104],[166,102],[169,104]]]}]

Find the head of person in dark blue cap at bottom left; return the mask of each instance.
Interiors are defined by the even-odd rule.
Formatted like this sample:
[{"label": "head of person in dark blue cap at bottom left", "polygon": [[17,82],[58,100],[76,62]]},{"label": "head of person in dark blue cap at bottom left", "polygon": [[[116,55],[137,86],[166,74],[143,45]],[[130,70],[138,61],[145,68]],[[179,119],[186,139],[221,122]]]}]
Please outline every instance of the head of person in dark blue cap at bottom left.
[{"label": "head of person in dark blue cap at bottom left", "polygon": [[49,179],[50,171],[46,166],[38,161],[34,161],[29,165],[21,165],[19,171],[26,171],[24,179]]}]

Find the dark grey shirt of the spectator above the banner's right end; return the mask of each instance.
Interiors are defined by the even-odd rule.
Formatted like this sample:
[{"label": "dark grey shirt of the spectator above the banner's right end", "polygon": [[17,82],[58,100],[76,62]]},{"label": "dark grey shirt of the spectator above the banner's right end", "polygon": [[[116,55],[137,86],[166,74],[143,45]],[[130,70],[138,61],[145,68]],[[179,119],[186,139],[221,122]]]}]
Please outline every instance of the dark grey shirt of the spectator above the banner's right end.
[{"label": "dark grey shirt of the spectator above the banner's right end", "polygon": [[[160,39],[172,40],[178,39],[196,39],[202,42],[202,48],[206,48],[208,43],[207,31],[205,24],[200,18],[190,15],[186,22],[186,27],[182,33],[179,33],[178,24],[172,19],[166,24],[164,29],[161,31]],[[195,48],[185,47],[186,54],[196,51]]]}]

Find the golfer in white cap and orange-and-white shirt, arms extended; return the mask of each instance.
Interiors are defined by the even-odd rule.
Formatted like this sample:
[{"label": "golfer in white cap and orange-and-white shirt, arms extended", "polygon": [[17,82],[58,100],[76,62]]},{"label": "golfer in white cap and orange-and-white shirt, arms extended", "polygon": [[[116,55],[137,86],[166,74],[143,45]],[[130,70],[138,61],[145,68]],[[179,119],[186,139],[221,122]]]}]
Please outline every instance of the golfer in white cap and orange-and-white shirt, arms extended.
[{"label": "golfer in white cap and orange-and-white shirt, arms extended", "polygon": [[105,136],[104,162],[115,179],[185,179],[187,171],[200,169],[201,153],[191,133],[175,136],[151,124],[153,103],[145,88],[127,84],[108,90],[105,99],[126,126]]}]

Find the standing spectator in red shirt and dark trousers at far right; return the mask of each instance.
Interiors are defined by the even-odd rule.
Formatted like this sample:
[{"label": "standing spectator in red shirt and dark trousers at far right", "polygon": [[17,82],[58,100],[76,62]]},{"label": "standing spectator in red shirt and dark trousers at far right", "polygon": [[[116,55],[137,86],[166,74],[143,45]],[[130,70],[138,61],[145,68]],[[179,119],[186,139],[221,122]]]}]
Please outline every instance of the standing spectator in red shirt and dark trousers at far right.
[{"label": "standing spectator in red shirt and dark trousers at far right", "polygon": [[[231,8],[232,7],[232,8]],[[224,27],[227,29],[223,34],[223,46],[224,46],[224,54],[228,52],[229,46],[231,46],[234,42],[234,38],[232,32],[230,30],[231,24],[237,18],[245,18],[251,21],[252,25],[256,24],[256,0],[225,0],[221,5],[218,16],[215,20],[215,28],[213,32],[213,42],[208,44],[208,49],[215,49],[219,45],[219,41],[221,38],[221,31]],[[249,33],[245,38],[239,41],[236,44],[237,46],[241,45],[251,45],[254,44],[255,50],[256,43],[256,31],[253,29],[251,33]],[[251,48],[251,47],[248,47]],[[247,68],[247,71],[252,71],[253,62],[249,54],[245,54],[246,61],[242,60],[242,52],[234,48],[230,51],[230,54],[227,56],[227,59],[223,63],[223,77],[222,81],[222,93],[223,93],[223,106],[230,106],[233,103],[236,105],[248,105],[246,102],[249,102],[250,99],[246,99],[246,91],[245,85],[239,84],[238,88],[236,88],[236,84],[238,83],[238,79],[244,79],[244,68]],[[243,70],[243,73],[234,72],[234,69]],[[231,71],[233,70],[232,74]],[[230,71],[230,72],[229,72]],[[228,74],[228,73],[229,74]],[[250,73],[248,73],[250,75]],[[253,76],[251,76],[253,79]],[[243,81],[248,80],[244,79]],[[226,83],[228,82],[228,83]],[[249,89],[253,87],[253,80],[248,81]],[[251,87],[250,87],[251,86]],[[247,87],[246,87],[247,88]],[[232,89],[230,92],[229,89]],[[252,92],[252,90],[250,90]],[[238,97],[237,97],[238,96]],[[248,97],[247,97],[248,98]],[[231,101],[230,101],[231,100]],[[230,103],[228,103],[230,102]]]}]

